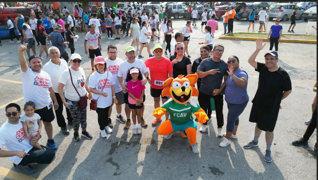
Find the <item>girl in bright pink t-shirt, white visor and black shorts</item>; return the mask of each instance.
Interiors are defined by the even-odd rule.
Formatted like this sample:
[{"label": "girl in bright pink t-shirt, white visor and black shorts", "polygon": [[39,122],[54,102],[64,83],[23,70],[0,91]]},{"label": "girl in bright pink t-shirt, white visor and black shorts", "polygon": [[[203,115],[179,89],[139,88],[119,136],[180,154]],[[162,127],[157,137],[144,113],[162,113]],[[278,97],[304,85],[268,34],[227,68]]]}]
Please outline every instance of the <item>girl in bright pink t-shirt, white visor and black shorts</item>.
[{"label": "girl in bright pink t-shirt, white visor and black shorts", "polygon": [[[141,135],[141,108],[143,107],[143,95],[145,94],[145,86],[141,84],[142,73],[137,67],[132,67],[127,74],[127,93],[128,106],[132,112],[132,119],[134,123],[133,135]],[[136,124],[136,115],[138,120],[138,127]]]}]

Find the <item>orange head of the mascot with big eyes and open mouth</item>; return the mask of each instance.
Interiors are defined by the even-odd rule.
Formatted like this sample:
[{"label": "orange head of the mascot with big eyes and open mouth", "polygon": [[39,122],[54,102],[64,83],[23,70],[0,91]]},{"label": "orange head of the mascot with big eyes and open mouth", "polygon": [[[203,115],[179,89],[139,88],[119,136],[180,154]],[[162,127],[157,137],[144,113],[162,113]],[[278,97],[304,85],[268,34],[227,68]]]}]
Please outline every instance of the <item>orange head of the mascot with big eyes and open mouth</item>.
[{"label": "orange head of the mascot with big eyes and open mouth", "polygon": [[178,104],[187,103],[191,96],[198,96],[199,91],[194,85],[198,79],[197,74],[190,74],[184,77],[179,75],[177,78],[169,78],[164,81],[162,96],[170,96]]}]

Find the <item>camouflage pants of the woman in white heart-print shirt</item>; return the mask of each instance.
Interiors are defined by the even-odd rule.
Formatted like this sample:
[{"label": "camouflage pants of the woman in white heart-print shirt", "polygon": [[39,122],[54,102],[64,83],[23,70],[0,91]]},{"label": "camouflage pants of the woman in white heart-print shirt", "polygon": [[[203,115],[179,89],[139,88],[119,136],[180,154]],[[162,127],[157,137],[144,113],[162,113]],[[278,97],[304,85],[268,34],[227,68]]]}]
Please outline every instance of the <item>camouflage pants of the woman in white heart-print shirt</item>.
[{"label": "camouflage pants of the woman in white heart-print shirt", "polygon": [[79,131],[79,123],[81,125],[82,131],[86,131],[86,107],[81,109],[79,106],[79,100],[73,101],[66,99],[66,102],[72,103],[72,107],[70,108],[70,113],[73,117],[73,129],[74,132]]}]

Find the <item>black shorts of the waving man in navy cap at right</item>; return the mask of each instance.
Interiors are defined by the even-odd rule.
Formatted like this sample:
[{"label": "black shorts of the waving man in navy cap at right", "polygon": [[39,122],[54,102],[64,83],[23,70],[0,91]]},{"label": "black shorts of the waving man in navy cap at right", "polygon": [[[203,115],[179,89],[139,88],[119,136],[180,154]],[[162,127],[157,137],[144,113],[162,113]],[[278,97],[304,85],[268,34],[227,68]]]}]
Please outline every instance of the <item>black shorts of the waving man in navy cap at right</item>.
[{"label": "black shorts of the waving man in navy cap at right", "polygon": [[250,122],[256,122],[257,128],[263,131],[273,132],[277,117],[278,117],[279,107],[274,107],[274,109],[264,109],[253,104],[250,114]]}]

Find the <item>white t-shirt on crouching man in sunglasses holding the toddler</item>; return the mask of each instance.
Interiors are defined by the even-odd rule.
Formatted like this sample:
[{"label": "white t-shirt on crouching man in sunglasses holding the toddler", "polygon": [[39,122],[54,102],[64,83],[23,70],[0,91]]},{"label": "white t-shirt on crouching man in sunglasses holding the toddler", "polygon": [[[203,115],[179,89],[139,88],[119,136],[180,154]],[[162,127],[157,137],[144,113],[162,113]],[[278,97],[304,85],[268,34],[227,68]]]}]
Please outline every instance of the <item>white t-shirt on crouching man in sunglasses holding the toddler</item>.
[{"label": "white t-shirt on crouching man in sunglasses holding the toddler", "polygon": [[[30,140],[26,138],[24,134],[22,122],[19,121],[18,124],[10,124],[7,121],[0,127],[0,148],[6,146],[7,151],[22,151],[29,152],[33,146],[30,144]],[[18,156],[11,156],[9,159],[15,163],[19,164],[23,158]]]}]

